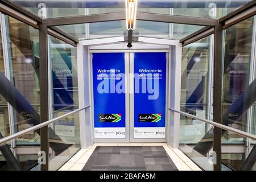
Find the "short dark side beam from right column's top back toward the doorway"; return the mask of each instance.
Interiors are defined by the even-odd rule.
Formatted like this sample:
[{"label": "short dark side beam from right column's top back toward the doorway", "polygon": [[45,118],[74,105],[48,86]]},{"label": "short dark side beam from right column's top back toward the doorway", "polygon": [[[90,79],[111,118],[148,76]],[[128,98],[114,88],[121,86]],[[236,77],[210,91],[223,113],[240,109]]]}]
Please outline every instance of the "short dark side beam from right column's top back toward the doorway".
[{"label": "short dark side beam from right column's top back toward the doorway", "polygon": [[203,27],[200,30],[194,32],[193,34],[190,34],[186,36],[185,38],[180,40],[180,43],[182,43],[182,46],[187,46],[190,43],[196,42],[197,40],[203,39],[208,35],[211,35],[214,33],[213,27]]}]

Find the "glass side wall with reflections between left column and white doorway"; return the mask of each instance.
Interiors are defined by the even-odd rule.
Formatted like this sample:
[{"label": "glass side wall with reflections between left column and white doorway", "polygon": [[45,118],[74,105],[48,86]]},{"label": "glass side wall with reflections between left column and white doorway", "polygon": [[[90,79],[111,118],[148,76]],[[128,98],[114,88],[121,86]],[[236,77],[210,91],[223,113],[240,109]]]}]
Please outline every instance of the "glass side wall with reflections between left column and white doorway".
[{"label": "glass side wall with reflections between left column and white doorway", "polygon": [[[49,57],[53,88],[51,114],[56,118],[79,108],[76,47],[49,36]],[[79,113],[53,123],[49,142],[55,152],[50,169],[57,169],[80,149]],[[59,163],[53,165],[55,162]]]}]

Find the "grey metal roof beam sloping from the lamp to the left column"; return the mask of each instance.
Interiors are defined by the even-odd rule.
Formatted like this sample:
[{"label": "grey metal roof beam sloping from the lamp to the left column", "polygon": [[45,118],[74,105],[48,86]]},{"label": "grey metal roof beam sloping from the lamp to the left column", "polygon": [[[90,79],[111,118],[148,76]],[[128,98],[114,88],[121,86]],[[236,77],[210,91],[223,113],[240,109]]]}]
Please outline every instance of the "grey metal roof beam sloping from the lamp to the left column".
[{"label": "grey metal roof beam sloping from the lamp to the left column", "polygon": [[116,20],[125,20],[126,13],[106,13],[96,15],[81,15],[81,16],[68,16],[61,18],[47,18],[44,19],[46,26],[64,26],[69,24],[82,24],[82,23],[96,23],[96,22],[109,22]]}]

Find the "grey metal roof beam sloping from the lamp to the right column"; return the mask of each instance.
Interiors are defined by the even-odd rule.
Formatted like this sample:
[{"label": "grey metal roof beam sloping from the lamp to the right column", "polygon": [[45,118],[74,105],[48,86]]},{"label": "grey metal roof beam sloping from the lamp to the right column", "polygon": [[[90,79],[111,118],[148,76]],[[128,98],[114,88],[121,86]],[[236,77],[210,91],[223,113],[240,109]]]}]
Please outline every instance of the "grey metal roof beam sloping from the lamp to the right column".
[{"label": "grey metal roof beam sloping from the lamp to the right column", "polygon": [[179,23],[179,24],[191,24],[197,26],[216,26],[218,19],[212,18],[198,18],[191,16],[177,16],[167,14],[155,14],[155,13],[141,13],[138,12],[136,16],[137,20],[146,20],[152,22],[165,22],[165,23]]}]

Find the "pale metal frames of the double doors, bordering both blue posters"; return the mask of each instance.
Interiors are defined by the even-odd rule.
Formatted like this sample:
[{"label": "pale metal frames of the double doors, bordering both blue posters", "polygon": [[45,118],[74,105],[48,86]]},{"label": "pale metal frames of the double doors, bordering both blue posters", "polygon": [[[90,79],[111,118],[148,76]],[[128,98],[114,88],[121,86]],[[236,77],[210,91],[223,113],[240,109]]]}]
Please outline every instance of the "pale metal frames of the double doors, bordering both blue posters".
[{"label": "pale metal frames of the double doors, bordering both blue posters", "polygon": [[[92,53],[113,53],[113,52],[123,52],[125,53],[125,73],[134,73],[134,57],[133,53],[136,52],[166,52],[169,53],[169,49],[127,49],[127,50],[122,50],[122,49],[93,49],[90,50],[90,75],[91,78],[93,78],[93,72],[92,72]],[[141,143],[141,142],[167,142],[167,126],[168,126],[168,64],[169,64],[169,59],[168,59],[168,54],[166,56],[166,119],[165,119],[165,133],[166,137],[163,139],[135,139],[134,138],[134,93],[126,93],[125,95],[125,107],[126,107],[126,121],[125,121],[125,127],[126,127],[126,138],[125,139],[96,139],[94,138],[94,103],[92,102],[91,107],[92,107],[92,139],[94,143]],[[130,90],[131,84],[133,84],[133,81],[129,80],[129,77],[127,77],[127,90]],[[93,101],[93,80],[91,82],[90,88],[92,89],[92,101]],[[132,87],[133,88],[133,87]]]}]

